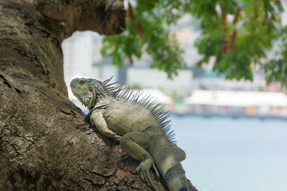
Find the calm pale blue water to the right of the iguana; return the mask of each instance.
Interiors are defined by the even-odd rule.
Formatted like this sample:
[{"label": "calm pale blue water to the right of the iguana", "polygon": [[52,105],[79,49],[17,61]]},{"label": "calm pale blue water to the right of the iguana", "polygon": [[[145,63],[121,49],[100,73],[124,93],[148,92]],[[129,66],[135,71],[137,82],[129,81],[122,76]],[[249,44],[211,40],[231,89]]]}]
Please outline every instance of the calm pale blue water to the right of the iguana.
[{"label": "calm pale blue water to the right of the iguana", "polygon": [[171,115],[199,191],[287,190],[287,121]]}]

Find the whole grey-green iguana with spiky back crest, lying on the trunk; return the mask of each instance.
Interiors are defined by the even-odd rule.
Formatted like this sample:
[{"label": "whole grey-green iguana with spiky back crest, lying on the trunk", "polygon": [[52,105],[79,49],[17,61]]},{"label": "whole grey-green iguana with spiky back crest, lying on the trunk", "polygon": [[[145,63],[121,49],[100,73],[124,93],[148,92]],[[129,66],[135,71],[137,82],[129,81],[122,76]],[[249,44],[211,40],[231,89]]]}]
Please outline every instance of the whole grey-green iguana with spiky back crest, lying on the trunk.
[{"label": "whole grey-green iguana with spiky back crest, lying on the trunk", "polygon": [[151,167],[158,178],[160,171],[170,191],[189,190],[190,182],[180,163],[185,159],[185,152],[173,140],[167,112],[163,107],[158,108],[160,103],[156,104],[150,95],[139,100],[142,93],[123,88],[123,84],[114,87],[117,82],[108,84],[110,80],[75,78],[71,81],[73,94],[89,109],[84,123],[119,141],[131,157],[139,160],[137,172],[155,190]]}]

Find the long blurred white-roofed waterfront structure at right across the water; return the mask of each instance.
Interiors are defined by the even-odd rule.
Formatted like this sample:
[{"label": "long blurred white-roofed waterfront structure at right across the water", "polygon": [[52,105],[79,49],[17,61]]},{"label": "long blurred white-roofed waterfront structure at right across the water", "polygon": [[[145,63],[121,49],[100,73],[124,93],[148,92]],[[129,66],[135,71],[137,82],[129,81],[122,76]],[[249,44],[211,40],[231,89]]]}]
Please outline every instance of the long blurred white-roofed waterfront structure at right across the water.
[{"label": "long blurred white-roofed waterfront structure at right across the water", "polygon": [[190,113],[287,116],[287,95],[283,92],[193,90],[184,102]]}]

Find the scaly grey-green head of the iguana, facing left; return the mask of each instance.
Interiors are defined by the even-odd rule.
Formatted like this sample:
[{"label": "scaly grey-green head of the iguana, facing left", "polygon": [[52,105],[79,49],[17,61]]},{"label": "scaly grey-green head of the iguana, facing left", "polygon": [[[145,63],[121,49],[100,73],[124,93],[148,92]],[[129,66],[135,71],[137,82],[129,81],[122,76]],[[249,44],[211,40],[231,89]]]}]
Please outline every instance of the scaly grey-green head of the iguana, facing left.
[{"label": "scaly grey-green head of the iguana, facing left", "polygon": [[75,78],[71,81],[70,87],[74,96],[77,97],[82,105],[90,109],[94,107],[99,99],[112,96],[110,90],[119,87],[109,87],[117,82],[106,85],[110,79],[102,82],[92,78]]}]

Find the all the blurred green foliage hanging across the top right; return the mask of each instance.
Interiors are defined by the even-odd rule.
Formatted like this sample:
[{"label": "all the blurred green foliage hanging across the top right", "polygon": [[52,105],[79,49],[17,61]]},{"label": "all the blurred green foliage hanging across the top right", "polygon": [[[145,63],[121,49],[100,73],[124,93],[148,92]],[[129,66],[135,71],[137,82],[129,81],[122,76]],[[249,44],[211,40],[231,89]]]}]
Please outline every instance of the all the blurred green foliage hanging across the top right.
[{"label": "all the blurred green foliage hanging across the top right", "polygon": [[[183,50],[169,29],[184,14],[201,21],[201,35],[195,46],[203,56],[197,63],[215,56],[214,70],[227,79],[253,79],[252,70],[259,65],[267,82],[287,85],[286,28],[280,25],[283,11],[278,0],[157,0],[133,1],[128,22],[121,35],[105,37],[102,53],[121,65],[124,58],[141,57],[145,49],[153,58],[151,67],[171,77],[176,68],[185,66]],[[191,34],[192,35],[192,34]],[[278,42],[283,42],[278,48]],[[276,56],[270,56],[276,52]]]}]

